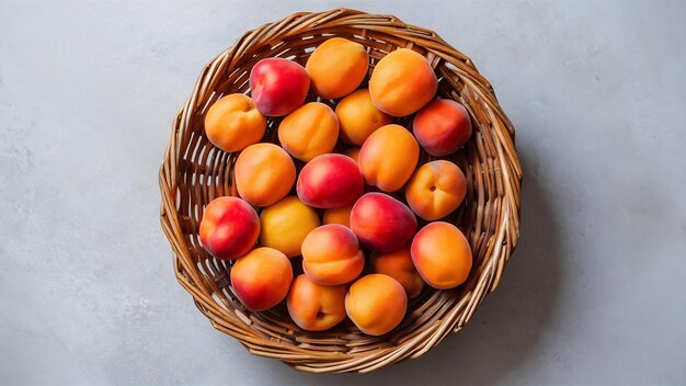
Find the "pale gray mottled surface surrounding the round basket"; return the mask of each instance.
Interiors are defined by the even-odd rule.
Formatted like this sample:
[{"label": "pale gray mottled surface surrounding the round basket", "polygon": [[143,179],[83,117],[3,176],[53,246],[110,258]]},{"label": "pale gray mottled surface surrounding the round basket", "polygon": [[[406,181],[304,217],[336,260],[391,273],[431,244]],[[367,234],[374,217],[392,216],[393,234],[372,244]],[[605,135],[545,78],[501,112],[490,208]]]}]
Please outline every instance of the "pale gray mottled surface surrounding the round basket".
[{"label": "pale gray mottled surface surrounding the round basket", "polygon": [[[522,238],[471,322],[369,375],[250,355],[175,282],[157,172],[206,61],[338,5],[434,29],[517,127]],[[686,3],[0,3],[0,384],[683,384]]]}]

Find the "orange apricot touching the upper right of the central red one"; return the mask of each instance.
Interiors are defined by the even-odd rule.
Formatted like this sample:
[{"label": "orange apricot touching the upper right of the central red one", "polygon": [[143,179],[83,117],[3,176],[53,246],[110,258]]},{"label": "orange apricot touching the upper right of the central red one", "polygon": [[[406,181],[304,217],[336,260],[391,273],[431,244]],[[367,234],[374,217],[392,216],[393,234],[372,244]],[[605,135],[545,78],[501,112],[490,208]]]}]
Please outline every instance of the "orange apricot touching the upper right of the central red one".
[{"label": "orange apricot touching the upper right of the central red one", "polygon": [[395,192],[412,177],[420,146],[404,127],[386,125],[374,132],[359,150],[359,170],[365,182],[384,192]]}]

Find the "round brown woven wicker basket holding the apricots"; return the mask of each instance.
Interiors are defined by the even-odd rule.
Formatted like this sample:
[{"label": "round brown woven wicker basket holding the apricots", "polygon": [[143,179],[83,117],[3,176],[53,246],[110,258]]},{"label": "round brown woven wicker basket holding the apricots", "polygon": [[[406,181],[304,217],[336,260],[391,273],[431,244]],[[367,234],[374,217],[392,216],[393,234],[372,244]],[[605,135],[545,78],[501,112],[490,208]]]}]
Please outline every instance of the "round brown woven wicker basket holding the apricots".
[{"label": "round brown woven wicker basket holding the apricots", "polygon": [[[371,68],[397,47],[424,55],[438,76],[438,94],[462,103],[475,124],[468,145],[451,158],[467,177],[467,198],[450,220],[471,243],[475,264],[469,280],[450,291],[424,290],[409,304],[400,326],[382,337],[366,336],[347,321],[329,331],[305,331],[283,306],[248,311],[230,287],[231,262],[213,259],[198,238],[205,205],[217,196],[236,195],[236,154],[218,150],[205,137],[208,106],[224,94],[247,92],[258,60],[278,56],[305,65],[312,49],[334,35],[366,46]],[[270,124],[263,140],[275,140],[277,124]],[[368,372],[431,350],[459,331],[485,294],[495,290],[518,238],[522,170],[514,127],[491,86],[468,57],[434,32],[391,15],[347,9],[296,13],[248,32],[203,69],[174,121],[159,179],[161,223],[174,250],[176,279],[199,310],[251,353],[307,372]]]}]

